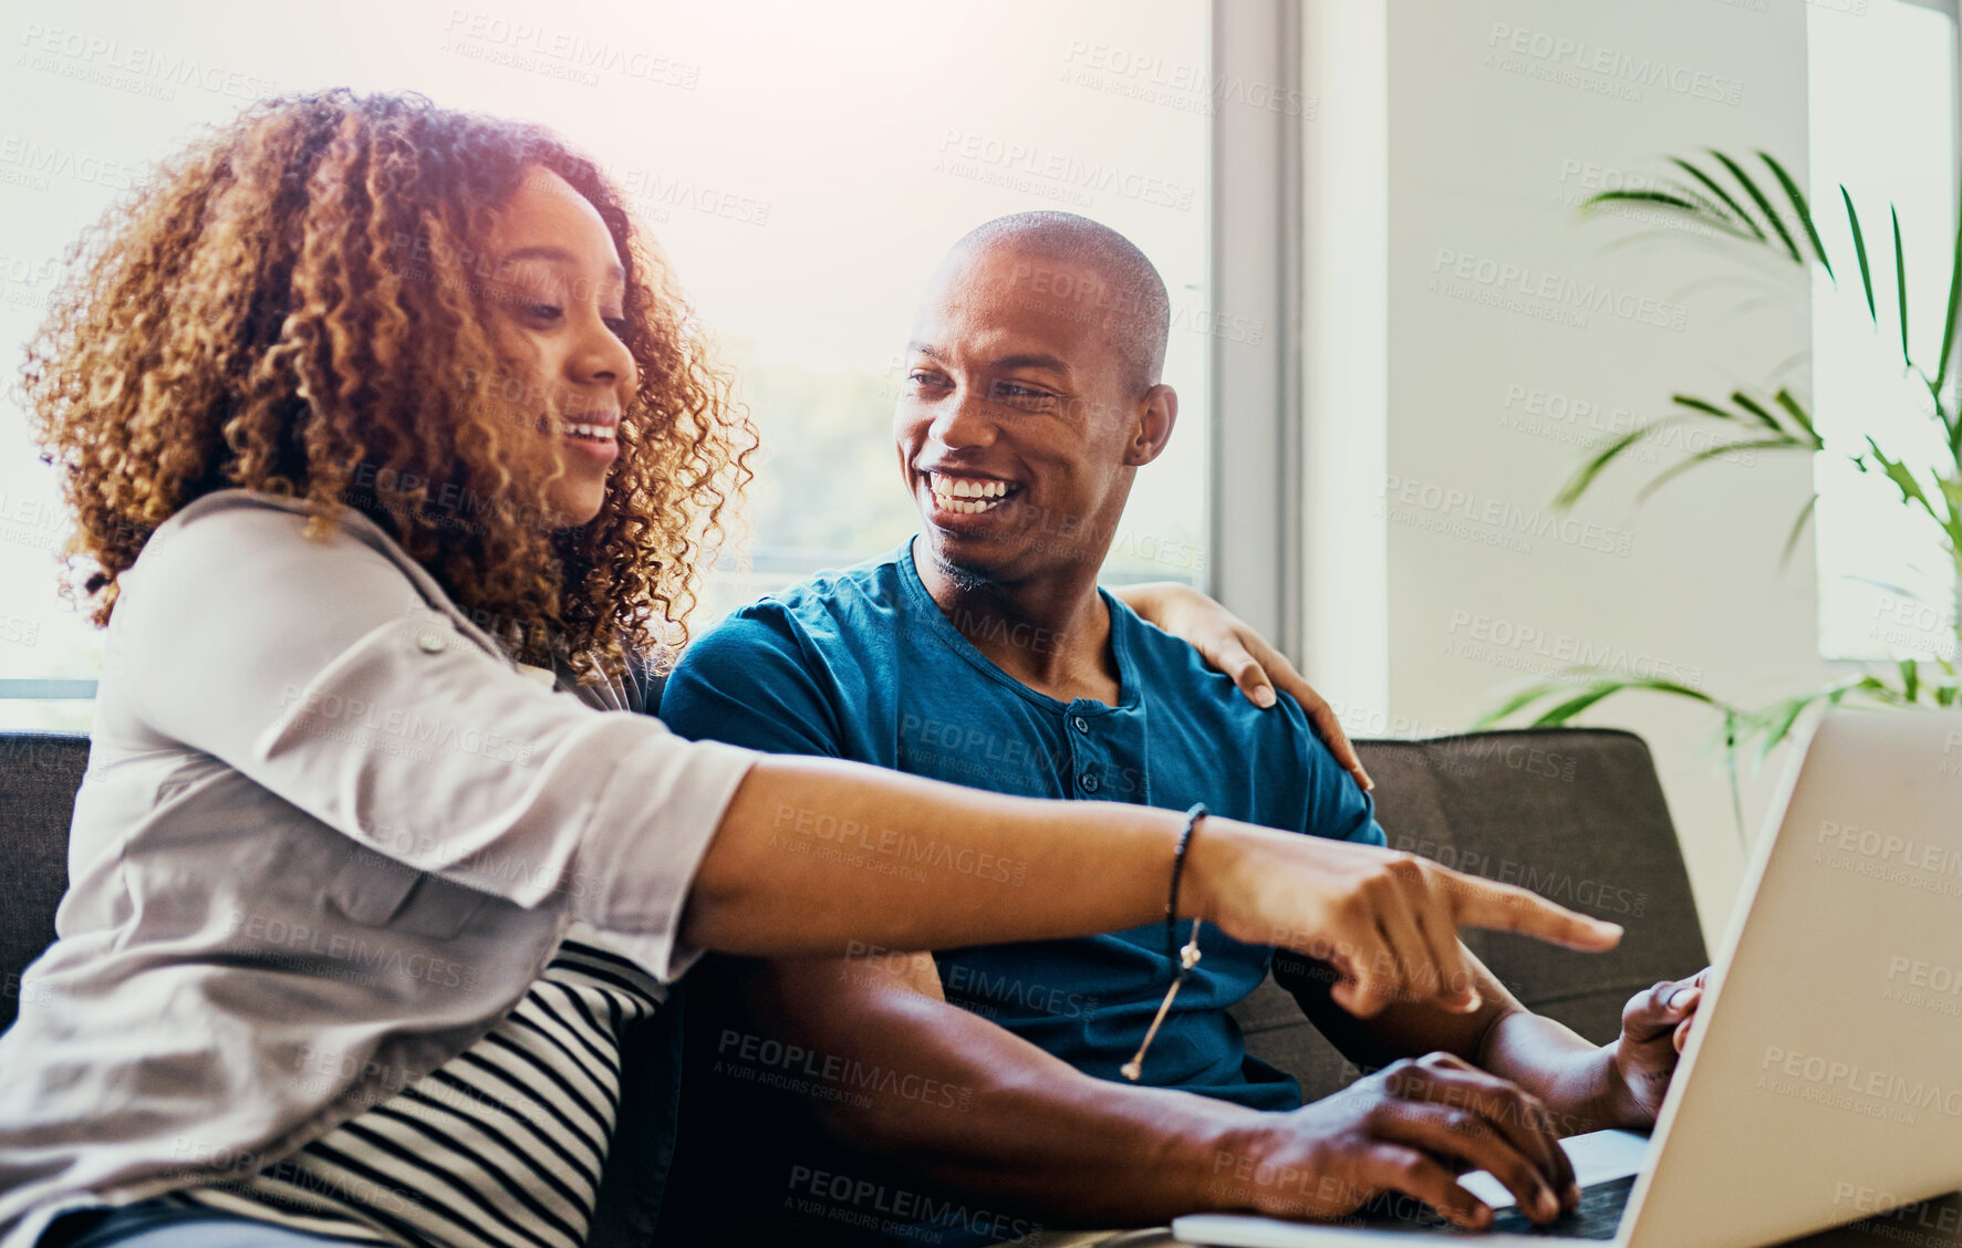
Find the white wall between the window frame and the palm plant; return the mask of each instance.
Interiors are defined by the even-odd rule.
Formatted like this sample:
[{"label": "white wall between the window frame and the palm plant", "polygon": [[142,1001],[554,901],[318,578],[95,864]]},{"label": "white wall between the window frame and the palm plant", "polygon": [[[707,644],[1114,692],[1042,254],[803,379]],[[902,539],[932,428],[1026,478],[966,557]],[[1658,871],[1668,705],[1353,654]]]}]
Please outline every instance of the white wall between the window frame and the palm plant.
[{"label": "white wall between the window frame and the palm plant", "polygon": [[[1805,351],[1803,283],[1742,308],[1705,281],[1734,271],[1713,243],[1574,208],[1703,147],[1803,181],[1803,8],[1309,0],[1303,653],[1354,730],[1460,730],[1583,655],[1748,704],[1825,675],[1811,544],[1778,569],[1803,457],[1701,469],[1638,508],[1664,451],[1550,508],[1609,426]],[[1742,869],[1715,716],[1630,695],[1583,722],[1654,750],[1715,942]],[[1746,783],[1752,836],[1774,771]]]}]

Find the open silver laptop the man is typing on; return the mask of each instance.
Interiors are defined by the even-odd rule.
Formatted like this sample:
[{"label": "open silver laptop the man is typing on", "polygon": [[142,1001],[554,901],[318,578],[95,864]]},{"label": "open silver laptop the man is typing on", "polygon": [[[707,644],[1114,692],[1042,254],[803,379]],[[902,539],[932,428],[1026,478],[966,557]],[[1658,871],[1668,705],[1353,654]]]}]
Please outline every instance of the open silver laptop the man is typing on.
[{"label": "open silver laptop the man is typing on", "polygon": [[[1693,967],[1660,967],[1687,973]],[[1654,1134],[1564,1140],[1581,1209],[1173,1221],[1187,1244],[1760,1248],[1962,1187],[1962,712],[1825,716],[1791,761]],[[1417,1209],[1415,1201],[1401,1205]]]}]

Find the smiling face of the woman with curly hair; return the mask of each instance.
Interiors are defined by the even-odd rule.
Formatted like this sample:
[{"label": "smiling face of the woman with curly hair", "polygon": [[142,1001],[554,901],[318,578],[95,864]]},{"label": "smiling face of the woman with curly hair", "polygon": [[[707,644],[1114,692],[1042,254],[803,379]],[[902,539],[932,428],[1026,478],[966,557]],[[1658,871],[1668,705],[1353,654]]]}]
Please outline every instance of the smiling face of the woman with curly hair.
[{"label": "smiling face of the woman with curly hair", "polygon": [[492,339],[520,371],[506,392],[524,396],[565,463],[540,502],[565,526],[587,524],[606,498],[620,412],[638,387],[634,355],[620,341],[620,253],[598,210],[543,167],[498,208],[489,253]]}]

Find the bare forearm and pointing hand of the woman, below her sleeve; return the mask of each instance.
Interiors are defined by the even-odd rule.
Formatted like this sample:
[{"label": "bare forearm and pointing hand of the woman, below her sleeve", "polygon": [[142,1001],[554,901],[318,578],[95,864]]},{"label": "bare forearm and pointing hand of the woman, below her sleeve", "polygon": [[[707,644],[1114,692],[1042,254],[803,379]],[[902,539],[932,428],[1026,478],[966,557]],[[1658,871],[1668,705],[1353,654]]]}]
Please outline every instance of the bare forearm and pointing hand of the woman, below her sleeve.
[{"label": "bare forearm and pointing hand of the woman, below her sleeve", "polygon": [[[783,956],[1114,932],[1163,916],[1183,822],[1124,803],[1005,797],[765,755],[702,858],[683,940]],[[1438,954],[1456,940],[1422,932],[1497,926],[1583,950],[1621,938],[1613,924],[1411,854],[1230,818],[1199,826],[1179,901],[1181,916],[1228,936],[1336,963],[1336,999],[1369,1014],[1464,981]]]}]

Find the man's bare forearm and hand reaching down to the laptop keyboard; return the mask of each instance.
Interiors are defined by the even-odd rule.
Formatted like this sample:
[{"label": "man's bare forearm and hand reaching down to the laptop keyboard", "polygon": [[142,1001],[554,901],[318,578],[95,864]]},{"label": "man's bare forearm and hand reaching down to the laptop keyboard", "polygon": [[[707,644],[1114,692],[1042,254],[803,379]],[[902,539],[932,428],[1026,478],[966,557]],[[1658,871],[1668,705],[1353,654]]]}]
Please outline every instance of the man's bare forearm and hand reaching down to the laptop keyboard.
[{"label": "man's bare forearm and hand reaching down to the laptop keyboard", "polygon": [[[1095,1079],[940,999],[930,956],[736,965],[757,1034],[806,1048],[861,1097],[824,1097],[824,1126],[928,1181],[1063,1224],[1136,1226],[1195,1211],[1338,1217],[1417,1197],[1489,1219],[1458,1170],[1499,1175],[1534,1217],[1572,1173],[1501,1081],[1401,1064],[1295,1113]],[[852,1079],[891,1071],[893,1079]],[[1564,1158],[1558,1158],[1564,1162]]]}]

